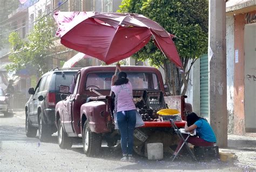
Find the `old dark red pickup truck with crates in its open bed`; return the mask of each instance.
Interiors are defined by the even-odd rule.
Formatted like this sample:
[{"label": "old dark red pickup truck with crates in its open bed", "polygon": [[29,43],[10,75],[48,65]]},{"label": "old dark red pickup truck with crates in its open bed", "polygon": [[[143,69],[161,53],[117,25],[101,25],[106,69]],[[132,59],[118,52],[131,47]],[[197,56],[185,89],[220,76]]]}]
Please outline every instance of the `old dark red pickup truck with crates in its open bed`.
[{"label": "old dark red pickup truck with crates in its open bed", "polygon": [[[114,94],[110,96],[115,69],[114,66],[85,67],[78,71],[74,89],[60,85],[60,92],[69,94],[57,103],[55,110],[60,148],[71,147],[73,138],[80,137],[85,154],[93,156],[99,153],[103,139],[108,146],[117,144],[120,134],[113,124]],[[137,139],[134,145],[140,147],[138,153],[144,151],[141,148],[152,132],[172,130],[168,116],[158,116],[158,110],[178,109],[180,114],[170,117],[178,127],[184,127],[185,97],[166,96],[163,78],[156,68],[122,66],[122,70],[132,83],[134,103],[145,121],[145,125],[134,132]]]}]

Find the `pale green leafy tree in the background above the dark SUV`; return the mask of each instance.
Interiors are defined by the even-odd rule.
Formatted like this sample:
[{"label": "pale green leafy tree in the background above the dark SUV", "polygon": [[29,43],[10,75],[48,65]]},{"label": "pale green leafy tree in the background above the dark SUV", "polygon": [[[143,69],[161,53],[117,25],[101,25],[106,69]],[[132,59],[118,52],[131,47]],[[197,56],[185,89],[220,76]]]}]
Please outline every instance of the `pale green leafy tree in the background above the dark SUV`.
[{"label": "pale green leafy tree in the background above the dark SUV", "polygon": [[44,74],[49,70],[49,60],[52,52],[54,38],[54,25],[51,17],[42,18],[37,21],[28,40],[22,40],[17,32],[9,35],[9,42],[12,46],[9,60],[12,62],[6,69],[18,71],[20,69],[36,69],[38,75]]}]

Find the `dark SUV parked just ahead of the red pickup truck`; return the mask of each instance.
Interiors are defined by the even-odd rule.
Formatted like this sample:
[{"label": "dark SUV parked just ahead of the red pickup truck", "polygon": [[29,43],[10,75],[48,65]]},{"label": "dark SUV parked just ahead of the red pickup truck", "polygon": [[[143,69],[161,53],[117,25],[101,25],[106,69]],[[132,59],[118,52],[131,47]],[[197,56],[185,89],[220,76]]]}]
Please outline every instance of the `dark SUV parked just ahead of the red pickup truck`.
[{"label": "dark SUV parked just ahead of the red pickup truck", "polygon": [[55,105],[65,99],[65,95],[59,92],[59,85],[72,87],[78,70],[78,68],[51,69],[40,78],[35,89],[29,89],[31,97],[25,104],[27,137],[36,137],[38,129],[39,140],[46,141],[57,131]]}]

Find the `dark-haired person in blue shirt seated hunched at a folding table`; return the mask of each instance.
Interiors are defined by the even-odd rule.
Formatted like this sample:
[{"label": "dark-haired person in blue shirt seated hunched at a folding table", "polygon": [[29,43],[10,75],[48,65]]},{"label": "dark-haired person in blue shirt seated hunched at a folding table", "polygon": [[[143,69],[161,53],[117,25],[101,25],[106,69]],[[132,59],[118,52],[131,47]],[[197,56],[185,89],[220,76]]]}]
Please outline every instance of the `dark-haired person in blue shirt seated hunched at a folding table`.
[{"label": "dark-haired person in blue shirt seated hunched at a folding table", "polygon": [[[190,136],[187,142],[194,146],[214,146],[217,142],[216,136],[212,130],[211,125],[205,118],[198,117],[196,113],[192,112],[188,114],[185,124],[186,132],[193,132],[196,130],[198,137]],[[186,137],[186,135],[184,135]],[[183,144],[183,139],[180,139],[178,147],[173,155],[177,155],[177,152]]]}]

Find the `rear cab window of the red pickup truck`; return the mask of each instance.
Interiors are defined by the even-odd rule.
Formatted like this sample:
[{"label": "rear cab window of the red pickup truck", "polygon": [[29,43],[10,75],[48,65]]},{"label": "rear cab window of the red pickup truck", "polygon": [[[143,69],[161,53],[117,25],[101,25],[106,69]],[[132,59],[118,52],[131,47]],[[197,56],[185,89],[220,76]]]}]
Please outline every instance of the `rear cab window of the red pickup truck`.
[{"label": "rear cab window of the red pickup truck", "polygon": [[[86,79],[85,89],[102,89],[111,88],[111,78],[114,73],[89,73]],[[132,84],[133,89],[159,90],[159,81],[154,73],[144,72],[127,72],[127,78]]]}]

